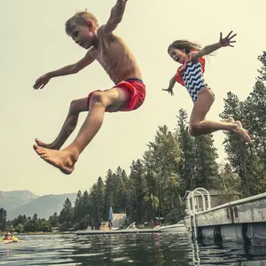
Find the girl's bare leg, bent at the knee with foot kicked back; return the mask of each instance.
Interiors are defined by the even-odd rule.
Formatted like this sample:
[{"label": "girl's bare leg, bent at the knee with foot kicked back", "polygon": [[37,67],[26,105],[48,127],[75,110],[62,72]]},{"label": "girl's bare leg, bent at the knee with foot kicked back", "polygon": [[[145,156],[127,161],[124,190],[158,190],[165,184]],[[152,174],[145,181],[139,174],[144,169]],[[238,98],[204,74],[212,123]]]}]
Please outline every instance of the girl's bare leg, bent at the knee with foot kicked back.
[{"label": "girl's bare leg, bent at the knee with foot kicked back", "polygon": [[242,128],[240,121],[203,121],[210,107],[213,105],[213,102],[214,97],[210,90],[206,88],[200,90],[199,98],[192,109],[189,125],[190,135],[198,137],[217,130],[228,130],[235,132],[239,137],[242,137],[246,142],[249,142],[250,137],[246,133],[246,130]]}]

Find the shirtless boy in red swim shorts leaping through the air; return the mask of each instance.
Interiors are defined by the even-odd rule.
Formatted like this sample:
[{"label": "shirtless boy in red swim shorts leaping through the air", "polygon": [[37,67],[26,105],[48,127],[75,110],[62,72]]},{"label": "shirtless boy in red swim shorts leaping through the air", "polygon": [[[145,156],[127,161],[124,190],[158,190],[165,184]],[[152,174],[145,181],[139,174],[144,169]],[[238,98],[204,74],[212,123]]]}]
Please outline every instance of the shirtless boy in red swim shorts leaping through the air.
[{"label": "shirtless boy in red swim shorts leaping through the air", "polygon": [[[90,12],[78,12],[67,20],[66,34],[89,51],[74,65],[44,74],[35,82],[35,90],[43,89],[51,78],[75,74],[96,59],[115,84],[110,90],[92,91],[88,98],[74,100],[59,136],[51,144],[35,139],[35,152],[64,174],[73,172],[79,155],[100,129],[105,112],[136,110],[145,101],[145,84],[141,81],[137,61],[121,38],[113,35],[113,30],[121,22],[126,3],[127,0],[117,0],[109,20],[101,27]],[[85,111],[89,113],[77,137],[71,145],[59,150],[74,131],[79,113]]]}]

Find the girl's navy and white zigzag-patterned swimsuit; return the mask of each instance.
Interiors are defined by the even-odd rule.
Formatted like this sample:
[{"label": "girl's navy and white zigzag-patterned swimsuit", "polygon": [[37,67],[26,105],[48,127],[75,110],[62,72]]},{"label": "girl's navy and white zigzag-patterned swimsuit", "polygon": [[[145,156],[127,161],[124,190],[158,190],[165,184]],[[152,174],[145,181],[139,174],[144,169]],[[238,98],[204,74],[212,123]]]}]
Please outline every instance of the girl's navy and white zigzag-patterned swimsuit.
[{"label": "girl's navy and white zigzag-patterned swimsuit", "polygon": [[202,66],[200,62],[187,62],[183,74],[184,87],[189,92],[192,101],[196,102],[199,92],[202,88],[207,87],[204,81]]}]

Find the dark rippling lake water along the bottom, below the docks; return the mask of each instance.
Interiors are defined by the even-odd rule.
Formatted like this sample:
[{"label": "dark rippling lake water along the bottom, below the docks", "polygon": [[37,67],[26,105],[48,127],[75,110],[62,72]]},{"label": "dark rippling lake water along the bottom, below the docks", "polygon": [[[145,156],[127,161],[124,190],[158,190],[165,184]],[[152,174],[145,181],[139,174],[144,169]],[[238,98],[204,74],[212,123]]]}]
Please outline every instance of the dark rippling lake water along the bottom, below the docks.
[{"label": "dark rippling lake water along the bottom, below the docks", "polygon": [[266,246],[192,244],[176,234],[21,235],[0,245],[0,265],[266,265]]}]

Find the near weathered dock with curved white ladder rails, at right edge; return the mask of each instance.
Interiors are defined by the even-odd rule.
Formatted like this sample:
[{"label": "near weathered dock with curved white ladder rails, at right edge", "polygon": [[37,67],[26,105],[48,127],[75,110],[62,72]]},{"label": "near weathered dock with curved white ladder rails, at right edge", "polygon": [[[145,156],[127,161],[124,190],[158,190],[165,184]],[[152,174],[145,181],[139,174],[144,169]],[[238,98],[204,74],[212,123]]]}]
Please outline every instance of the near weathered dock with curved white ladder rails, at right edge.
[{"label": "near weathered dock with curved white ladder rails, at right edge", "polygon": [[[199,207],[201,200],[202,209]],[[204,188],[191,192],[187,198],[185,227],[198,238],[199,231],[243,231],[243,226],[266,223],[266,192],[242,200],[212,207],[209,193]],[[218,230],[217,230],[218,228]]]}]

